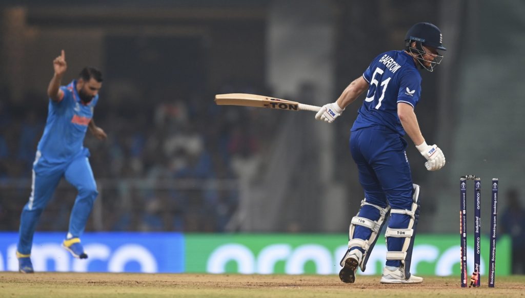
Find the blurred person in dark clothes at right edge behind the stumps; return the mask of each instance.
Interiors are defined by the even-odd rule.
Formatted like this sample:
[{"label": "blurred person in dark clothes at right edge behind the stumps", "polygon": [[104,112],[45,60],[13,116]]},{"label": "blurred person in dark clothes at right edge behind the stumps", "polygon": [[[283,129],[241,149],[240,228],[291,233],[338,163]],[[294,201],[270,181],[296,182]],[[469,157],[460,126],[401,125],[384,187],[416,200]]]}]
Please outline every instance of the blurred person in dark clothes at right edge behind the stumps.
[{"label": "blurred person in dark clothes at right edge behind the stumps", "polygon": [[501,231],[512,239],[512,274],[525,273],[525,210],[517,189],[507,192],[507,208],[501,214]]}]

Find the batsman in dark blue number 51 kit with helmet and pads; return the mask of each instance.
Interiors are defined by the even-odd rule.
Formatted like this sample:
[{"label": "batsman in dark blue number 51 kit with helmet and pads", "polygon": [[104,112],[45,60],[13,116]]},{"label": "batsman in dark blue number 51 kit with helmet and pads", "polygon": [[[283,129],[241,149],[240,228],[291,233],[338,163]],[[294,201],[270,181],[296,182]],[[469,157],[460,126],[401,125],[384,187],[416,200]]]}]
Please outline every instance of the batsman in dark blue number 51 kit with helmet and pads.
[{"label": "batsman in dark blue number 51 kit with helmet and pads", "polygon": [[412,182],[403,136],[407,134],[423,155],[428,171],[445,165],[442,150],[426,143],[414,113],[421,97],[418,68],[432,72],[443,59],[439,51],[445,50],[443,36],[435,25],[417,23],[406,33],[404,50],[377,56],[337,101],[325,104],[316,114],[316,119],[332,123],[368,90],[350,135],[350,152],[365,198],[350,223],[348,250],[339,273],[343,282],[353,283],[358,267],[365,271],[377,234],[389,214],[385,231],[388,252],[380,282],[423,282],[423,278],[410,273],[419,219],[419,186]]}]

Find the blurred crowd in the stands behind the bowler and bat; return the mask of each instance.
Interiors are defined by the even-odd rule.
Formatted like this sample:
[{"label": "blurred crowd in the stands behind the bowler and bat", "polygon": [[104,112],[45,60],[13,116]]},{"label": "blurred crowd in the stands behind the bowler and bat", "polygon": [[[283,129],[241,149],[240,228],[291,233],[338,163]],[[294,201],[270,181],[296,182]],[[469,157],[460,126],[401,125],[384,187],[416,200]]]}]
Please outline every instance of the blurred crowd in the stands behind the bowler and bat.
[{"label": "blurred crowd in the stands behind the bowler and bat", "polygon": [[[89,132],[85,139],[100,191],[87,229],[224,231],[238,205],[237,178],[253,173],[253,160],[276,123],[261,119],[274,113],[213,102],[214,93],[234,90],[265,92],[235,83],[213,93],[141,90],[125,81],[103,86],[94,119],[108,140]],[[0,230],[18,229],[47,104],[44,92],[17,102],[6,90],[2,94]],[[13,184],[16,179],[26,183]],[[67,229],[75,196],[74,188],[60,184],[38,229]]]}]

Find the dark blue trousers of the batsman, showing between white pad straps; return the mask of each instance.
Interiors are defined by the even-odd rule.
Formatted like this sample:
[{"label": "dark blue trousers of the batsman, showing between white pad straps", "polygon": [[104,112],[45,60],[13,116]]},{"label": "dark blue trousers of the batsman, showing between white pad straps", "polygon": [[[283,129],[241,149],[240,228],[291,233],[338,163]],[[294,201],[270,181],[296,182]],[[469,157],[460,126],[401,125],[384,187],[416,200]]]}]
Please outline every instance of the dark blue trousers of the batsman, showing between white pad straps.
[{"label": "dark blue trousers of the batsman, showing between white pad straps", "polygon": [[[350,152],[358,166],[359,182],[367,203],[381,208],[388,204],[392,209],[412,209],[412,174],[405,153],[406,146],[407,142],[400,134],[385,126],[367,127],[351,133]],[[363,206],[358,216],[377,220],[379,210]],[[409,220],[407,215],[392,214],[388,227],[404,229],[408,227]],[[368,240],[370,235],[370,229],[357,226],[353,237]],[[403,238],[389,237],[388,251],[400,251],[403,241]],[[398,267],[401,261],[387,260],[386,265]]]}]

